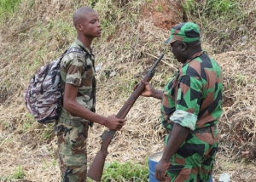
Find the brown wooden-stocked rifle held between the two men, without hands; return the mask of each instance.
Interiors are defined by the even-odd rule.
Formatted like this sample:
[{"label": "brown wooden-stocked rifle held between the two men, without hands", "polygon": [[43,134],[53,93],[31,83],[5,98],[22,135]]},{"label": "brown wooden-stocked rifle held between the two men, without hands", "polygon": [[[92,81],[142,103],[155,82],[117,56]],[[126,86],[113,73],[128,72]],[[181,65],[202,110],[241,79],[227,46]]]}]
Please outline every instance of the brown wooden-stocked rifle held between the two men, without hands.
[{"label": "brown wooden-stocked rifle held between the two men, without hands", "polygon": [[[154,63],[154,65],[150,68],[147,75],[143,78],[145,82],[149,82],[151,78],[154,76],[154,68],[163,58],[164,54],[161,54],[158,60]],[[130,111],[132,105],[135,103],[137,98],[143,93],[145,85],[141,82],[137,88],[133,91],[130,98],[125,102],[125,105],[121,108],[119,113],[116,115],[117,118],[125,119],[126,115]],[[100,182],[102,179],[102,172],[104,168],[104,163],[106,156],[108,155],[108,145],[113,139],[116,130],[110,129],[109,131],[105,131],[102,134],[102,147],[101,150],[97,152],[96,157],[90,165],[90,169],[87,173],[87,176],[90,179],[96,180],[96,182]]]}]

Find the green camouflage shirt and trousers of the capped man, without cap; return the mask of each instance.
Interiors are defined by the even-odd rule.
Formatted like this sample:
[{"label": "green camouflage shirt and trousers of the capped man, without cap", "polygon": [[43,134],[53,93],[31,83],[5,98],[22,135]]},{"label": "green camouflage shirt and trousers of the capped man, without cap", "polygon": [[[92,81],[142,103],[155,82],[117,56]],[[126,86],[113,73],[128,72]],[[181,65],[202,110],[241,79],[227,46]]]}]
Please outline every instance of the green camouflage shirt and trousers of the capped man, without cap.
[{"label": "green camouflage shirt and trousers of the capped man, without cap", "polygon": [[[172,156],[168,174],[172,181],[207,181],[218,151],[218,128],[213,129],[222,114],[223,75],[218,64],[200,52],[172,77],[164,88],[161,124],[172,130],[174,122],[191,133]],[[211,127],[212,126],[212,127]],[[211,127],[211,132],[193,134]],[[166,137],[166,144],[169,135]]]}]

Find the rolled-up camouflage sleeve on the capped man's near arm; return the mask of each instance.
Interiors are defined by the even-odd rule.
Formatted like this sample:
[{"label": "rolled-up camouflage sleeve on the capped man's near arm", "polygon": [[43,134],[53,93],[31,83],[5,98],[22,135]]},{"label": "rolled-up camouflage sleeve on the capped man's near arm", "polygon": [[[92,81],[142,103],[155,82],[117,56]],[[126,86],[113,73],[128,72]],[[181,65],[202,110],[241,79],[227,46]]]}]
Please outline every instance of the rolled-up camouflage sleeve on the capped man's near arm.
[{"label": "rolled-up camouflage sleeve on the capped man's near arm", "polygon": [[177,88],[176,111],[170,120],[177,122],[183,127],[195,130],[195,123],[200,111],[201,104],[201,80],[195,77],[180,77]]}]

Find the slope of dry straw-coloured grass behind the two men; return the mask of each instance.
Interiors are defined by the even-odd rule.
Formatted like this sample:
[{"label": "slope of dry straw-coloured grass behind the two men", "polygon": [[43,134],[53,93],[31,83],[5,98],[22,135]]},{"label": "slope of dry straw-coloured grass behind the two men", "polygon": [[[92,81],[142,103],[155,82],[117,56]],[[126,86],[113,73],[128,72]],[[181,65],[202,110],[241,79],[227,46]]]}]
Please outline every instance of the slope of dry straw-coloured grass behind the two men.
[{"label": "slope of dry straw-coloured grass behind the two men", "polygon": [[[222,16],[218,12],[220,8],[216,12],[206,10],[209,7],[206,2],[190,4],[188,7],[197,6],[197,11],[187,9],[187,19],[201,26],[204,48],[224,69],[224,115],[219,124],[222,143],[215,179],[224,172],[230,173],[233,181],[256,179],[253,162],[250,162],[255,154],[255,0],[250,3],[238,1],[240,6],[236,9],[236,16],[230,12]],[[65,3],[24,0],[16,13],[2,23],[0,156],[1,166],[5,168],[0,172],[0,180],[8,177],[17,179],[15,174],[21,176],[23,172],[29,181],[58,179],[52,126],[40,126],[29,117],[22,94],[38,67],[61,55],[73,42],[75,31],[71,17],[81,4],[79,0],[66,0]],[[117,113],[135,83],[160,53],[165,52],[166,55],[157,67],[152,84],[162,88],[175,71],[177,62],[162,46],[168,29],[154,26],[154,20],[143,11],[143,16],[139,15],[143,9],[165,13],[166,4],[164,0],[131,1],[120,8],[119,3],[96,3],[104,30],[102,38],[94,43],[96,65],[102,63],[97,74],[98,113],[105,116]],[[206,18],[211,15],[208,11],[213,12],[215,20]],[[234,20],[234,17],[239,20]],[[112,76],[114,73],[116,75]],[[124,129],[109,146],[107,162],[131,160],[144,163],[149,154],[160,151],[165,132],[158,121],[159,101],[139,98],[127,116]],[[98,125],[90,129],[90,159],[99,150],[99,145],[95,144],[100,143],[99,136],[104,129]]]}]

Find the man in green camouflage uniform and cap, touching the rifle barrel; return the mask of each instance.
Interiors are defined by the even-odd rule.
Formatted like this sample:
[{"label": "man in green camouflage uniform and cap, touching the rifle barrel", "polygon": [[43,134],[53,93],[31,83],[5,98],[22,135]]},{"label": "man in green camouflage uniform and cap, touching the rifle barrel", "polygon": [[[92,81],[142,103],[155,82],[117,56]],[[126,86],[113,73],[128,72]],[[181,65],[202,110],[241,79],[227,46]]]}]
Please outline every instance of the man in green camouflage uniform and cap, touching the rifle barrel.
[{"label": "man in green camouflage uniform and cap, touching the rifle barrel", "polygon": [[161,181],[206,182],[218,151],[218,118],[222,114],[223,75],[201,49],[194,23],[174,26],[165,44],[183,65],[164,90],[145,84],[143,96],[161,100],[161,124],[168,134],[155,178]]}]

